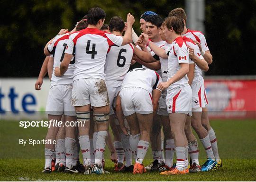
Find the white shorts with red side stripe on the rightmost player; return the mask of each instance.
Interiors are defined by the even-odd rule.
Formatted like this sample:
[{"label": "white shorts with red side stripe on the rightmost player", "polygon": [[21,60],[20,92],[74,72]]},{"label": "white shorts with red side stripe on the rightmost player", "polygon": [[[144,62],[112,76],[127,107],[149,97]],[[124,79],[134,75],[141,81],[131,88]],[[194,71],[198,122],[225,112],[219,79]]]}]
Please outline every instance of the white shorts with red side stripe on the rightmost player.
[{"label": "white shorts with red side stripe on the rightmost player", "polygon": [[204,107],[204,86],[203,86],[203,79],[199,80],[198,82],[193,82],[191,84],[192,89],[192,111],[202,111],[199,108]]}]

